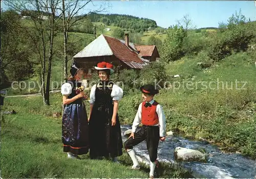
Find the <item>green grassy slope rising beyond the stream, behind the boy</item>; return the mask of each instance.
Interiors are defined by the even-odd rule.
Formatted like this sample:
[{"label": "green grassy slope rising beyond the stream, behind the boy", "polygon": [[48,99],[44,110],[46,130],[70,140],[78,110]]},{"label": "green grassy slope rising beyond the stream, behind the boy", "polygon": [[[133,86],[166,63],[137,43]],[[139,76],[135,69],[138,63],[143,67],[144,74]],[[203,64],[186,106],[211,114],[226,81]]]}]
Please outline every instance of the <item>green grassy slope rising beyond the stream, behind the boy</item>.
[{"label": "green grassy slope rising beyond the stream, behind the boy", "polygon": [[[201,68],[198,62],[206,60],[201,54],[166,66],[170,86],[155,99],[165,111],[167,130],[201,137],[255,159],[255,59],[244,52]],[[174,78],[177,74],[180,77]],[[140,102],[139,92],[124,97],[119,108],[124,122],[133,121]]]}]

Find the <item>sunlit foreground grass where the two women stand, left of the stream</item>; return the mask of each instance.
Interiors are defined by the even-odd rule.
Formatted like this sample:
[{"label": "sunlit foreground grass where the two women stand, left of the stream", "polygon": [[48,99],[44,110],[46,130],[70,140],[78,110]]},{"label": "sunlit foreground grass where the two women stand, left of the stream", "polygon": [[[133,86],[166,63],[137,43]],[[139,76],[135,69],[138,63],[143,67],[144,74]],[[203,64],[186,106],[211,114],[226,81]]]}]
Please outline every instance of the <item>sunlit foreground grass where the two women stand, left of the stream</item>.
[{"label": "sunlit foreground grass where the two women stand, left of the stream", "polygon": [[62,152],[61,122],[18,111],[2,126],[2,177],[146,177],[108,160],[67,159]]}]

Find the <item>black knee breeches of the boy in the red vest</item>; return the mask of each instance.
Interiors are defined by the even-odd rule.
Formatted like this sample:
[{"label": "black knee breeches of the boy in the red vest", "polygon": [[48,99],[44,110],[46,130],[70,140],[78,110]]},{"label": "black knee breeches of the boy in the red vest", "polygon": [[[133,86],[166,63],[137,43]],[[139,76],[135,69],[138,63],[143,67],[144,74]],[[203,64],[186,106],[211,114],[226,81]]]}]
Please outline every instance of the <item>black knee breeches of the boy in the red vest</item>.
[{"label": "black knee breeches of the boy in the red vest", "polygon": [[132,149],[133,146],[138,145],[146,140],[147,151],[150,154],[150,161],[155,162],[157,159],[157,148],[160,140],[159,126],[145,126],[134,133],[134,139],[129,138],[124,142],[125,149]]}]

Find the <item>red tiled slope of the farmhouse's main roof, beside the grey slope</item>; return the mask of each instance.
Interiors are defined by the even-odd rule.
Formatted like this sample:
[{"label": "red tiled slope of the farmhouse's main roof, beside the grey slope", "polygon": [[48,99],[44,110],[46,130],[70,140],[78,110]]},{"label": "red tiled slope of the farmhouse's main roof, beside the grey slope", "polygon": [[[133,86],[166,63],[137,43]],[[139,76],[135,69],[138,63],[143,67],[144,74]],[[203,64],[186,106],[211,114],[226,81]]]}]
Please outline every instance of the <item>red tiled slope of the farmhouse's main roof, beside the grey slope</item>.
[{"label": "red tiled slope of the farmhouse's main roof, beside the grey slope", "polygon": [[118,59],[122,61],[144,63],[136,52],[127,48],[120,40],[105,35],[103,36],[105,37],[106,42],[108,42],[113,54]]}]

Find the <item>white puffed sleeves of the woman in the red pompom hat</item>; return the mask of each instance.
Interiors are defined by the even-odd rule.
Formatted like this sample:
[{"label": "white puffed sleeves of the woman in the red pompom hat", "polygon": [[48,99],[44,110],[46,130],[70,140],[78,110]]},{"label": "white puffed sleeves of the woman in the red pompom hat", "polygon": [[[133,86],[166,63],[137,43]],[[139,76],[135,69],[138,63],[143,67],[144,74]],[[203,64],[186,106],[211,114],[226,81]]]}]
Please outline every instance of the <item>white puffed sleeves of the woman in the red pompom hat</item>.
[{"label": "white puffed sleeves of the woman in the red pompom hat", "polygon": [[[90,100],[89,100],[90,104],[94,104],[95,102],[95,91],[96,91],[96,84],[94,84],[91,88]],[[118,85],[113,84],[111,97],[113,98],[113,101],[120,100],[123,97],[123,89]]]}]

